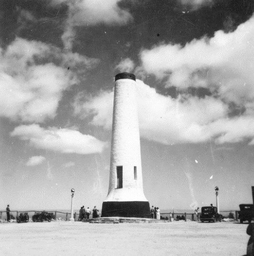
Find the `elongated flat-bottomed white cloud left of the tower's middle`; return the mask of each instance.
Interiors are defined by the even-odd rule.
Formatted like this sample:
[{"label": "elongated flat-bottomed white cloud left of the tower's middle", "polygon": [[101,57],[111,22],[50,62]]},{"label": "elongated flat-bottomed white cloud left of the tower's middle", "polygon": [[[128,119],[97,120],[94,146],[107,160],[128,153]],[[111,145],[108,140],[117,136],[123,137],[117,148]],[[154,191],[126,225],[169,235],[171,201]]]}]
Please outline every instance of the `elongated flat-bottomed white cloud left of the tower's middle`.
[{"label": "elongated flat-bottomed white cloud left of the tower's middle", "polygon": [[68,128],[41,128],[37,124],[20,125],[11,132],[11,136],[28,140],[30,145],[44,150],[61,153],[92,154],[101,153],[107,145],[88,134]]}]

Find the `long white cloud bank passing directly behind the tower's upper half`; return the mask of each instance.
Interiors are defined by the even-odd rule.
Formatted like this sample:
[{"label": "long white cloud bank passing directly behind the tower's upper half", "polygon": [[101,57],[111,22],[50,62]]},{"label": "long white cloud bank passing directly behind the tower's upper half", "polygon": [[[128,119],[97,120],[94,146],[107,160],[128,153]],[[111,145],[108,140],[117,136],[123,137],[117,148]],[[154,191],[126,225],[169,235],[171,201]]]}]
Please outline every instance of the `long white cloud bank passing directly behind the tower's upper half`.
[{"label": "long white cloud bank passing directly behind the tower's upper half", "polygon": [[[229,119],[228,106],[219,99],[208,96],[174,99],[160,95],[138,79],[137,89],[140,133],[146,139],[171,144],[204,142],[214,137],[216,142],[224,143],[254,136],[251,129],[237,130],[232,125],[241,124],[242,120]],[[93,125],[111,129],[113,92],[101,92],[88,99],[77,97],[73,106],[80,118],[93,117]],[[247,120],[248,117],[244,124]]]}]

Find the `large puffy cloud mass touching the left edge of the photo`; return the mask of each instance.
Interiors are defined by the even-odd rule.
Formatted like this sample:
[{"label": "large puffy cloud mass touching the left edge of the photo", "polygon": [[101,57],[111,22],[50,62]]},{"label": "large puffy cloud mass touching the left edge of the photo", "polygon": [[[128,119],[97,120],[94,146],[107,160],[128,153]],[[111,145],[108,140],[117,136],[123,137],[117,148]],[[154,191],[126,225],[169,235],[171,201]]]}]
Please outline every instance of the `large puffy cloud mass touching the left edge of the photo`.
[{"label": "large puffy cloud mass touching the left edge of the photo", "polygon": [[63,91],[79,82],[67,65],[88,68],[94,62],[43,42],[16,38],[0,48],[0,116],[23,122],[54,118]]}]

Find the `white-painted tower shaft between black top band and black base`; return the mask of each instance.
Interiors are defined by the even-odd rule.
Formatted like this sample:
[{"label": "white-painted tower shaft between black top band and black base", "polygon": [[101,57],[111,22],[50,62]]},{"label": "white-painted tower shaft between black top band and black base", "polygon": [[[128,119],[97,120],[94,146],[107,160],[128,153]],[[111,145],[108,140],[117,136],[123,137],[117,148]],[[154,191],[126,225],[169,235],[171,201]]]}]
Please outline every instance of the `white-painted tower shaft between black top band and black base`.
[{"label": "white-painted tower shaft between black top band and black base", "polygon": [[[115,82],[109,191],[105,201],[147,201],[143,192],[136,86],[131,79]],[[117,166],[123,167],[122,189],[116,189]]]}]

